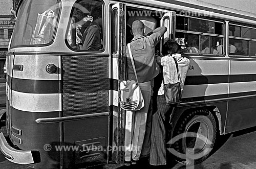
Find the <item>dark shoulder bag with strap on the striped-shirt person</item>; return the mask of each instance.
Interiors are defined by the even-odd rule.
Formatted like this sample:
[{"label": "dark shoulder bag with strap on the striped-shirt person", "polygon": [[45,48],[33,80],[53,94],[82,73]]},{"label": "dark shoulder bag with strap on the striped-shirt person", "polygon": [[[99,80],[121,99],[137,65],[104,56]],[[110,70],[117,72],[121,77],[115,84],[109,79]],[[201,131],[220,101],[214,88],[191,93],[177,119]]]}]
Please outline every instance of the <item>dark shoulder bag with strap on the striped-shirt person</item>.
[{"label": "dark shoulder bag with strap on the striped-shirt person", "polygon": [[176,64],[179,82],[164,84],[164,79],[163,79],[163,91],[164,91],[164,97],[167,105],[178,104],[181,102],[181,87],[180,87],[180,78],[179,78],[180,75],[179,75],[178,63],[175,58],[174,58],[174,61]]}]

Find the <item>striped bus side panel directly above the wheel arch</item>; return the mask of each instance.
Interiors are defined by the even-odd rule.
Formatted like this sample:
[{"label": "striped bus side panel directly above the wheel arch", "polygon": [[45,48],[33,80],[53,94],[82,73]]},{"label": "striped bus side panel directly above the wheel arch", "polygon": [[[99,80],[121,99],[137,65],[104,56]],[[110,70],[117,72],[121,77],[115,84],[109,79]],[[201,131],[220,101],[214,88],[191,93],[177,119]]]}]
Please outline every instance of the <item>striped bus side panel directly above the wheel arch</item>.
[{"label": "striped bus side panel directly above the wheel arch", "polygon": [[[228,74],[228,60],[222,60],[222,58],[219,60],[216,58],[190,59],[190,66],[182,93],[183,103],[203,102],[186,107],[184,110],[205,106],[218,108],[221,115],[221,133],[224,132],[227,112],[227,101],[222,100],[228,98]],[[212,103],[208,103],[209,101]]]}]

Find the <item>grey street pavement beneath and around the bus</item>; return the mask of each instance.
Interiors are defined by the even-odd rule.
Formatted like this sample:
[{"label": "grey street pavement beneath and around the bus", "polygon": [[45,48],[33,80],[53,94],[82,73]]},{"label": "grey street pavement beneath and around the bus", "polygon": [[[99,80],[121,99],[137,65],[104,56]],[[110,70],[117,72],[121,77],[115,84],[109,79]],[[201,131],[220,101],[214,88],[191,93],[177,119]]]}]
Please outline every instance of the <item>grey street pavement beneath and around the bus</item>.
[{"label": "grey street pavement beneath and around the bus", "polygon": [[[1,129],[3,131],[4,129]],[[251,128],[221,136],[218,143],[218,148],[215,152],[203,161],[201,164],[186,167],[174,160],[170,159],[171,163],[167,167],[160,167],[161,169],[254,169],[256,168],[256,128]],[[26,165],[19,165],[9,162],[0,154],[0,168],[1,169],[29,169]],[[132,165],[130,167],[121,164],[108,164],[98,167],[91,167],[90,169],[141,169],[149,168],[149,165],[143,163]]]}]

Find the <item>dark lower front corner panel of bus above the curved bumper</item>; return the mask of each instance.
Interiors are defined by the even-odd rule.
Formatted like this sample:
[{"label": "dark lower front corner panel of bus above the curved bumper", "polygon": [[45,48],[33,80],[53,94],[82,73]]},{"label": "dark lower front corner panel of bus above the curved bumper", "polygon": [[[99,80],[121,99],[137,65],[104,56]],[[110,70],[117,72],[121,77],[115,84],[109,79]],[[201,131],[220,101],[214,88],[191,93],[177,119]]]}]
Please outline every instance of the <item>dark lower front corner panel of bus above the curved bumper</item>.
[{"label": "dark lower front corner panel of bus above the curved bumper", "polygon": [[59,112],[26,112],[11,108],[12,142],[21,150],[33,152],[36,168],[59,167],[60,151],[59,146],[59,124],[47,123],[37,124],[37,118],[56,117]]}]

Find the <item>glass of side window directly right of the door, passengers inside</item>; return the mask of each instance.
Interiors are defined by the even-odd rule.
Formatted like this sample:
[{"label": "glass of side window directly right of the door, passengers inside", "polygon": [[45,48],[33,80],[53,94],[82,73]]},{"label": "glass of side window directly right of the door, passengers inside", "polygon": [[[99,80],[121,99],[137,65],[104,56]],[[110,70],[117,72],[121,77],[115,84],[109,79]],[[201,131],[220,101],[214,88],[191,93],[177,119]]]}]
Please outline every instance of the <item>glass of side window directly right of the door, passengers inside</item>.
[{"label": "glass of side window directly right of the door, passengers inside", "polygon": [[178,15],[175,40],[183,53],[223,55],[223,29],[222,22]]}]

